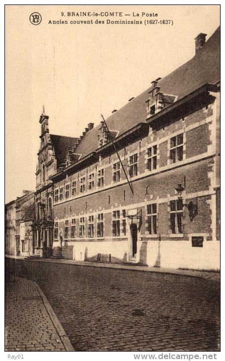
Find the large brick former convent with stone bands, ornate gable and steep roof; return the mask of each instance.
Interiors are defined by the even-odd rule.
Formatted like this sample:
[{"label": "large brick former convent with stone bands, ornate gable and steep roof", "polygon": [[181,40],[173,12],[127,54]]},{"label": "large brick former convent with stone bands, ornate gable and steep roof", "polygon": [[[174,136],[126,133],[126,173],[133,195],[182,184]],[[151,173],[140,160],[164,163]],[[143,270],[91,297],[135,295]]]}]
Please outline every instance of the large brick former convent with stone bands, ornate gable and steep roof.
[{"label": "large brick former convent with stone bands, ornate gable and steep roof", "polygon": [[219,269],[220,29],[205,37],[191,60],[78,139],[60,146],[43,112],[36,253]]}]

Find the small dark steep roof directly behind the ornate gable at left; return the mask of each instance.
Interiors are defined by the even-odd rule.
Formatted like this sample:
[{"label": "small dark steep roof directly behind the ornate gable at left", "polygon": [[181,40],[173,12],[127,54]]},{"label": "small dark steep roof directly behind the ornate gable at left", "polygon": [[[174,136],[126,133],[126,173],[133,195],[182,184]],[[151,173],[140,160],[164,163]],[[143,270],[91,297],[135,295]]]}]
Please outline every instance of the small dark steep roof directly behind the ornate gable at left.
[{"label": "small dark steep roof directly behind the ornate gable at left", "polygon": [[53,135],[50,134],[51,142],[55,150],[55,157],[57,159],[57,167],[65,162],[67,147],[74,146],[78,138],[72,136]]}]

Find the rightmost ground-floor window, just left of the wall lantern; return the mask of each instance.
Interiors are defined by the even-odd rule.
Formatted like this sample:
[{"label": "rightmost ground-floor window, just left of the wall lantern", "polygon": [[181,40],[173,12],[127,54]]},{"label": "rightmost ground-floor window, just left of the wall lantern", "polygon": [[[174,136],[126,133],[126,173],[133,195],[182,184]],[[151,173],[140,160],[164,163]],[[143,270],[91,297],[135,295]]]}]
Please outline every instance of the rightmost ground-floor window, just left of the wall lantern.
[{"label": "rightmost ground-floor window, just left of the wall lantern", "polygon": [[183,202],[182,199],[170,201],[171,233],[183,233]]}]

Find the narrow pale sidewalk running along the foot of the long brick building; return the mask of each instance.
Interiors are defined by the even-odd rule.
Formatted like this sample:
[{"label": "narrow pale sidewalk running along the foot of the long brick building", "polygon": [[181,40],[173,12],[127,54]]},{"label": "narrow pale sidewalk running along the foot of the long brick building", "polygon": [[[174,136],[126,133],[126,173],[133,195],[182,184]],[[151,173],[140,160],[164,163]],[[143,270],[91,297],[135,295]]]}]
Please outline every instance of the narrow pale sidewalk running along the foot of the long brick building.
[{"label": "narrow pale sidewalk running along the foot of the long brick building", "polygon": [[[18,260],[24,260],[24,257],[19,256],[7,256],[8,258],[14,258]],[[75,265],[75,266],[85,266],[85,267],[99,267],[99,268],[110,268],[116,270],[130,270],[130,271],[141,271],[141,272],[152,272],[152,273],[162,273],[162,274],[174,274],[179,276],[186,277],[195,277],[195,278],[204,278],[210,279],[213,281],[220,281],[220,272],[216,271],[198,271],[198,270],[180,270],[180,269],[169,269],[161,267],[149,267],[149,266],[139,266],[139,265],[127,265],[127,264],[117,264],[117,263],[103,263],[103,262],[88,262],[88,261],[74,261],[74,260],[56,260],[50,258],[41,258],[37,260],[24,260],[25,262],[50,262],[50,263],[60,263],[66,265]]]}]

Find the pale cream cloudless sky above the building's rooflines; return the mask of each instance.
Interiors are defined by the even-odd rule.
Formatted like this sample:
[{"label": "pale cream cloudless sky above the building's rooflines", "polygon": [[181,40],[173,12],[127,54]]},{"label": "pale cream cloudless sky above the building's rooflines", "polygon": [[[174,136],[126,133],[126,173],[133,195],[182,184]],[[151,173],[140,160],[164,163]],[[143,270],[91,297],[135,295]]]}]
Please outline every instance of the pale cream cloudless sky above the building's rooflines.
[{"label": "pale cream cloudless sky above the building's rooflines", "polygon": [[[70,11],[122,11],[123,17],[62,17]],[[30,23],[31,13],[42,16]],[[133,17],[132,13],[158,13]],[[220,25],[219,5],[6,6],[6,203],[35,190],[42,105],[51,134],[79,136],[194,55]],[[77,25],[71,20],[104,20]],[[173,25],[112,25],[106,20],[171,19]],[[49,20],[67,20],[51,25]]]}]

